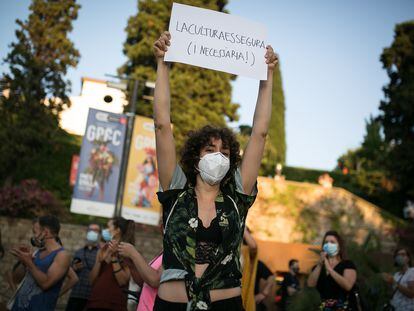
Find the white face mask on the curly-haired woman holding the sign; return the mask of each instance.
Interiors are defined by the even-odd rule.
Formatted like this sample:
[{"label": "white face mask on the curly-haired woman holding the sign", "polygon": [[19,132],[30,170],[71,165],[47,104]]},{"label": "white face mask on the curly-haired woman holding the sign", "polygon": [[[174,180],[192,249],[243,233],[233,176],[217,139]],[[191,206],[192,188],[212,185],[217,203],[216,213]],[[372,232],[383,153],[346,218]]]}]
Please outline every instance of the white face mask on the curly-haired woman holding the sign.
[{"label": "white face mask on the curly-haired woman holding the sign", "polygon": [[220,183],[229,169],[230,160],[221,152],[207,153],[198,162],[200,177],[209,185]]}]

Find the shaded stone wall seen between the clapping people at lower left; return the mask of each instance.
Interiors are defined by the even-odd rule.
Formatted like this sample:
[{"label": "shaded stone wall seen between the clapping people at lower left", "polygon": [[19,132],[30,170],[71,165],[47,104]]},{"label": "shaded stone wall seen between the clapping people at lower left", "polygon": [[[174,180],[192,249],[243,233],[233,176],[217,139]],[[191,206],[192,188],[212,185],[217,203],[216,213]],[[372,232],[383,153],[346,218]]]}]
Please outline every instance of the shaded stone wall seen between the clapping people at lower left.
[{"label": "shaded stone wall seen between the clapping people at lower left", "polygon": [[[5,304],[12,291],[6,280],[6,273],[11,271],[15,264],[15,258],[9,253],[10,249],[19,244],[30,244],[32,236],[32,222],[28,219],[0,217],[0,230],[2,244],[5,249],[5,256],[0,259],[0,310]],[[81,248],[85,243],[86,226],[73,224],[62,224],[60,237],[64,247],[71,253]],[[136,227],[136,248],[149,261],[162,249],[161,232],[158,228],[137,225]],[[64,307],[67,295],[59,300],[59,308]]]}]

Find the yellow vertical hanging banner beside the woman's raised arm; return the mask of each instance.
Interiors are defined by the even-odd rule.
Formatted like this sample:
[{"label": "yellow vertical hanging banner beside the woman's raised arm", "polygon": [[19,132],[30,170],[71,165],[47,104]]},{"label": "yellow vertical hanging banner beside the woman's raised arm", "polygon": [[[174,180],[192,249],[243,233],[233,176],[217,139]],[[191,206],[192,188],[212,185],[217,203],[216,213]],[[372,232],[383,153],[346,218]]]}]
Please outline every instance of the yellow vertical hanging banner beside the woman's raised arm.
[{"label": "yellow vertical hanging banner beside the woman's raised arm", "polygon": [[154,120],[137,116],[129,151],[122,216],[135,222],[158,225],[157,190]]}]

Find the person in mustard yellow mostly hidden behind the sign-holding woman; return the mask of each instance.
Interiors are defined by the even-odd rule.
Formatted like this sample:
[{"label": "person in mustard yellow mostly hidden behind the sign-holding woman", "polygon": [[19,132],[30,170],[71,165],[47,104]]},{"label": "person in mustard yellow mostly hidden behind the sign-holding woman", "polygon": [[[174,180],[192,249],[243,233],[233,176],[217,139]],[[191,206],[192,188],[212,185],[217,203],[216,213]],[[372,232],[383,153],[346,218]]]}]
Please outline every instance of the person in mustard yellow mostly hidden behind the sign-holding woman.
[{"label": "person in mustard yellow mostly hidden behind the sign-holding woman", "polygon": [[254,310],[256,302],[254,286],[257,270],[257,243],[246,226],[244,228],[243,243],[241,246],[240,263],[242,266],[242,301],[245,310]]}]

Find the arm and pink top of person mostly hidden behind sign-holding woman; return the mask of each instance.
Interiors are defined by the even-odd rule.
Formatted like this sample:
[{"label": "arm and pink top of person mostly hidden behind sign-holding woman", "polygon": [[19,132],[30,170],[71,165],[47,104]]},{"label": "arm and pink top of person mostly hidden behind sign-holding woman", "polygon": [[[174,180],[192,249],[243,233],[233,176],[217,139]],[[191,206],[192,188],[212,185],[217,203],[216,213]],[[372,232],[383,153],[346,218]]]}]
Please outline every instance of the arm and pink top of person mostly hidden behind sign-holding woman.
[{"label": "arm and pink top of person mostly hidden behind sign-holding woman", "polygon": [[118,246],[118,253],[132,261],[143,280],[143,284],[139,284],[142,286],[142,290],[137,311],[152,311],[160,285],[162,252],[155,256],[150,263],[147,263],[132,244],[121,242]]}]

